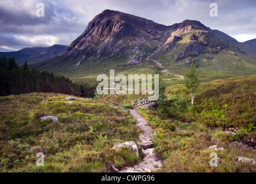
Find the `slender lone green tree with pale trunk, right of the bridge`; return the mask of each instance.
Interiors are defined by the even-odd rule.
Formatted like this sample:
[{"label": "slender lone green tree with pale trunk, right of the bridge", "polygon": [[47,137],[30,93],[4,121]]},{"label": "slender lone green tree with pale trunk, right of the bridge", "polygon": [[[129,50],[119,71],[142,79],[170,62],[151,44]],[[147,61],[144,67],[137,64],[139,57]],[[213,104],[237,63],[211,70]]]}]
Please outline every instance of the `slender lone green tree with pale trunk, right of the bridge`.
[{"label": "slender lone green tree with pale trunk, right of the bridge", "polygon": [[191,95],[191,107],[193,107],[195,93],[199,85],[198,74],[193,63],[190,66],[190,71],[185,73],[184,79],[184,85],[188,93]]}]

